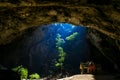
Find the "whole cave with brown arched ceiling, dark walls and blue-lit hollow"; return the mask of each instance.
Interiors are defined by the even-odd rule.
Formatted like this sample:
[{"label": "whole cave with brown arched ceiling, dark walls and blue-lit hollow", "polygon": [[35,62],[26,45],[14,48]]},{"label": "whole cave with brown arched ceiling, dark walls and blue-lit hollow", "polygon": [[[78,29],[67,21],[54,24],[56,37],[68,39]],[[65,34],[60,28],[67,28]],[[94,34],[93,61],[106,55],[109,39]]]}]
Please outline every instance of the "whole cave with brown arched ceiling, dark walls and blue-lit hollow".
[{"label": "whole cave with brown arched ceiling, dark walls and blue-lit hollow", "polygon": [[87,61],[100,65],[96,74],[120,72],[119,1],[13,2],[0,2],[1,69],[22,65],[29,74],[57,76],[62,48],[62,77],[79,74]]}]

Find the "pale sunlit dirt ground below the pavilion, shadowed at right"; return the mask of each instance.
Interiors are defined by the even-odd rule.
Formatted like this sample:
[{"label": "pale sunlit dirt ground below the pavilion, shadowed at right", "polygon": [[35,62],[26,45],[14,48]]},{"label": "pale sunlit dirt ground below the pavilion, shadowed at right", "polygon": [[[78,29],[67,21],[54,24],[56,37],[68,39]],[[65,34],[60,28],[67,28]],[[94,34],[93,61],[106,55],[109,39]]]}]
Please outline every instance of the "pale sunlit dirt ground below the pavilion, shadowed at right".
[{"label": "pale sunlit dirt ground below the pavilion, shadowed at right", "polygon": [[80,75],[79,74],[58,80],[120,80],[120,79],[115,79],[115,76],[113,75],[92,75],[92,74]]}]

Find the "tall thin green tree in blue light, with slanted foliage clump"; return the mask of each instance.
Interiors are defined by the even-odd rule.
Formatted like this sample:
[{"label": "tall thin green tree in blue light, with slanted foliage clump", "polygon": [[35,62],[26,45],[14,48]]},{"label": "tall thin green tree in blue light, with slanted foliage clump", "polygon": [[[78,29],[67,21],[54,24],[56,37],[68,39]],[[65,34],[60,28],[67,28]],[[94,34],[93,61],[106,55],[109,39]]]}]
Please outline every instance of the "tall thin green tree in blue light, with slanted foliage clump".
[{"label": "tall thin green tree in blue light, with slanted foliage clump", "polygon": [[[71,34],[70,36],[66,37],[65,39],[67,41],[70,41],[70,43],[72,43],[71,41],[74,41],[75,38],[77,37],[78,35],[78,32],[74,32],[73,34]],[[57,37],[56,37],[56,48],[58,50],[58,60],[55,61],[55,66],[56,67],[60,67],[61,69],[61,74],[62,74],[62,69],[63,69],[63,63],[65,61],[65,56],[66,56],[66,53],[64,52],[64,49],[62,48],[62,45],[65,44],[65,41],[64,39],[61,38],[61,35],[60,34],[57,34]]]}]

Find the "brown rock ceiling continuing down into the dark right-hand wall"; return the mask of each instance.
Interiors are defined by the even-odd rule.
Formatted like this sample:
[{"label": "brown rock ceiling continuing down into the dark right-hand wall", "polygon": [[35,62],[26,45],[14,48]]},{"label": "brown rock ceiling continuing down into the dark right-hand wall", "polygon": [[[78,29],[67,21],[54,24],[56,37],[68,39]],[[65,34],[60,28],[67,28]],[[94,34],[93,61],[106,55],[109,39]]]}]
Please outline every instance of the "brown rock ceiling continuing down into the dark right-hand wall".
[{"label": "brown rock ceiling continuing down into the dark right-hand wall", "polygon": [[[88,39],[112,63],[119,65],[120,15],[118,5],[47,2],[39,4],[1,3],[0,45],[7,45],[31,27],[68,22],[90,28]],[[2,49],[2,48],[1,48]],[[106,57],[106,58],[107,58]]]}]

